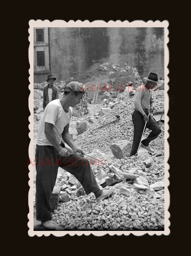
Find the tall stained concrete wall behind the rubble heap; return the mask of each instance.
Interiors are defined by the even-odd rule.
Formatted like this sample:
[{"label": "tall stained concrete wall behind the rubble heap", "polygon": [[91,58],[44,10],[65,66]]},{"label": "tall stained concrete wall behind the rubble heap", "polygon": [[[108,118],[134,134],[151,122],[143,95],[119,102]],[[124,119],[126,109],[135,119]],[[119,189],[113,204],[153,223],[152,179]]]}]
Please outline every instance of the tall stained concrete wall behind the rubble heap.
[{"label": "tall stained concrete wall behind the rubble heap", "polygon": [[57,81],[78,79],[95,62],[109,60],[164,77],[163,28],[50,28],[51,70]]}]

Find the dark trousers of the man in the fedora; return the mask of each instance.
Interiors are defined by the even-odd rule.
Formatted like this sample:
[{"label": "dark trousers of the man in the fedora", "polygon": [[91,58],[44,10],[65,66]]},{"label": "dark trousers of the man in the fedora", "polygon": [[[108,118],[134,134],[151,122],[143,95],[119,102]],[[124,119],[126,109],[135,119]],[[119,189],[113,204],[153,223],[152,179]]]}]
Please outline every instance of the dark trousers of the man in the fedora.
[{"label": "dark trousers of the man in the fedora", "polygon": [[[145,112],[145,113],[148,116],[148,112]],[[139,111],[133,112],[132,120],[134,125],[134,135],[133,135],[133,144],[132,144],[130,156],[133,156],[137,153],[141,136],[143,134],[143,130],[145,126],[143,115]],[[161,129],[158,126],[158,123],[151,116],[149,116],[149,121],[147,122],[145,129],[146,128],[152,130],[152,132],[148,135],[148,137],[142,140],[143,145],[148,146],[151,140],[154,140],[158,137],[158,135],[161,133]]]}]

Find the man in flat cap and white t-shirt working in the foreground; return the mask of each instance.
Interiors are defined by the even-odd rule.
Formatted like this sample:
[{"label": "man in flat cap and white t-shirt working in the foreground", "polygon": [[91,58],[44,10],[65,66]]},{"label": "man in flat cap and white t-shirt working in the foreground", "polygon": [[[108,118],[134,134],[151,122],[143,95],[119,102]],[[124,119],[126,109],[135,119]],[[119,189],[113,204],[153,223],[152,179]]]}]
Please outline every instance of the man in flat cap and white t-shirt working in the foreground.
[{"label": "man in flat cap and white t-shirt working in the foreground", "polygon": [[[58,167],[62,167],[76,177],[82,184],[86,194],[93,192],[97,202],[113,193],[114,188],[100,190],[87,158],[83,157],[82,149],[72,141],[69,126],[72,108],[80,102],[85,90],[78,82],[70,82],[64,89],[61,100],[51,101],[39,122],[39,133],[35,152],[36,161],[36,212],[37,220],[44,228],[55,230],[52,221],[52,210],[49,203]],[[72,149],[69,155],[62,139]]]}]

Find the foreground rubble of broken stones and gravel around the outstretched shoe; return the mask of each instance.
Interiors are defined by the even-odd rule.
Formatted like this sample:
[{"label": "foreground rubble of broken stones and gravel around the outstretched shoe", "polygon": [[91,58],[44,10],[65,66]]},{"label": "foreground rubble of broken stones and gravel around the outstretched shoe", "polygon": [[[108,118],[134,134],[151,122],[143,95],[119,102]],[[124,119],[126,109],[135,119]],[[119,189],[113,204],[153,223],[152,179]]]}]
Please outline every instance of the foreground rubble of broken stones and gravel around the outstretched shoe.
[{"label": "foreground rubble of broken stones and gravel around the outstretched shoe", "polygon": [[118,174],[105,166],[92,166],[100,188],[115,187],[111,197],[99,204],[94,194],[85,196],[75,177],[59,170],[50,200],[53,220],[65,230],[163,229],[163,159],[132,157],[116,165],[123,165],[120,170],[113,166]]}]

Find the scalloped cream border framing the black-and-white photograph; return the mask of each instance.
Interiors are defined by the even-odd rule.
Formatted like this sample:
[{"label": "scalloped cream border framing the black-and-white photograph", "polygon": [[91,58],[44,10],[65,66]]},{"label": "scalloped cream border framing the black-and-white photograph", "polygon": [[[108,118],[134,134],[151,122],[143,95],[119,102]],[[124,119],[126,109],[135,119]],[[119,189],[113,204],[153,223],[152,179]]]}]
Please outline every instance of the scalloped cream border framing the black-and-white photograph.
[{"label": "scalloped cream border framing the black-and-white photograph", "polygon": [[30,116],[29,116],[29,138],[30,138],[30,143],[29,143],[29,158],[30,159],[34,159],[34,152],[33,152],[33,147],[34,147],[34,131],[33,131],[33,118],[34,118],[34,113],[33,113],[33,97],[34,97],[34,90],[33,90],[33,86],[34,86],[34,65],[33,65],[33,61],[34,61],[34,27],[163,27],[164,28],[164,231],[147,231],[147,230],[143,230],[143,231],[34,231],[34,207],[33,207],[33,182],[34,182],[34,169],[32,164],[30,164],[28,166],[29,168],[29,196],[28,196],[28,204],[29,204],[29,214],[28,214],[28,235],[30,237],[33,237],[34,235],[37,235],[38,237],[41,237],[42,235],[44,236],[49,236],[49,235],[54,235],[56,237],[61,237],[64,236],[66,234],[69,234],[71,236],[73,235],[90,235],[93,234],[95,236],[104,236],[106,234],[109,234],[111,236],[113,235],[136,235],[136,236],[142,236],[145,234],[148,235],[169,235],[170,234],[170,221],[169,221],[169,217],[170,217],[170,213],[168,211],[169,205],[170,205],[170,195],[169,195],[169,190],[168,190],[168,186],[169,186],[169,165],[167,163],[168,158],[169,158],[169,144],[167,142],[167,139],[169,137],[169,133],[168,133],[168,121],[169,118],[167,116],[168,113],[168,106],[169,106],[169,97],[167,94],[167,91],[169,89],[168,87],[168,82],[169,82],[169,78],[168,78],[168,63],[169,63],[169,50],[168,50],[168,42],[169,42],[169,37],[168,37],[168,26],[169,26],[169,22],[167,20],[164,21],[142,21],[142,20],[135,20],[133,22],[129,22],[127,20],[125,21],[109,21],[109,22],[105,22],[102,20],[96,20],[96,21],[73,21],[70,20],[68,22],[65,22],[63,20],[54,20],[52,22],[50,22],[49,20],[30,20],[29,21],[29,64],[30,64],[30,68],[29,68],[29,90],[30,90],[30,95],[29,95],[29,111],[30,111]]}]

